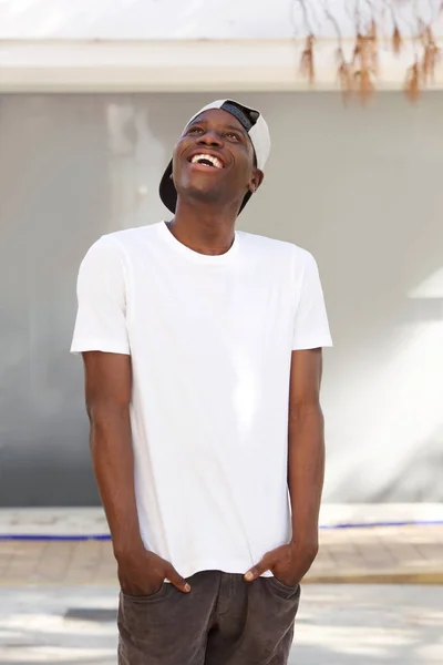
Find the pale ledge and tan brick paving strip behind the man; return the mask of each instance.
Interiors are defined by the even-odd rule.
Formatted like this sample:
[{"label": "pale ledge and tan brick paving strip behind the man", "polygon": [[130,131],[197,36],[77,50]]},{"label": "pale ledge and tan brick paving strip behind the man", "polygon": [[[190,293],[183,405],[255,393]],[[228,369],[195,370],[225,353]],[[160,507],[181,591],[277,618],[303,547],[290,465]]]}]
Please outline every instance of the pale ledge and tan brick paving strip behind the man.
[{"label": "pale ledge and tan brick paving strip behind the man", "polygon": [[[441,520],[442,524],[406,524],[414,519]],[[380,522],[404,524],[368,526]],[[442,505],[327,505],[322,523],[327,528],[320,531],[320,553],[307,583],[443,583]],[[330,529],[343,523],[353,528]],[[0,511],[0,538],[107,533],[101,509]],[[0,585],[106,585],[114,581],[109,541],[0,540]]]}]

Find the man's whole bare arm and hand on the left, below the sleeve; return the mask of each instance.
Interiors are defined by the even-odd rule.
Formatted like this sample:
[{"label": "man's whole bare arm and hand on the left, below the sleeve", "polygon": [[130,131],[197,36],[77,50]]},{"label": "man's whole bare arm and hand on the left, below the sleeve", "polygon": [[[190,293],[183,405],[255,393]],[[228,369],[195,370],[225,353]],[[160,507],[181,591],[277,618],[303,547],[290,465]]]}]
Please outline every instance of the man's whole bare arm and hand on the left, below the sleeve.
[{"label": "man's whole bare arm and hand on the left, below the sleeve", "polygon": [[111,530],[122,591],[152,595],[169,580],[190,591],[171,563],[146,551],[138,524],[131,443],[131,358],[122,354],[83,354],[85,393],[91,422],[91,454],[100,495]]}]

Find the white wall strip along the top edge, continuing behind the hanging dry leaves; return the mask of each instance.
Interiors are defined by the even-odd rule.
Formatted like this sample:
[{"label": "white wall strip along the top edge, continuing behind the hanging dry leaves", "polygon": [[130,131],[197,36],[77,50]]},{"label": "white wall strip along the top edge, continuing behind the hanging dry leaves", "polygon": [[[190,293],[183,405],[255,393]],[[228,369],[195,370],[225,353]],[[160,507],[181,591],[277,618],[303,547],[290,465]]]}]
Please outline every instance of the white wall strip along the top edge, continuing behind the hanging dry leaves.
[{"label": "white wall strip along the top edge, continuing behind the hanging dry leaves", "polygon": [[[413,13],[427,23],[440,0],[390,0],[405,33]],[[389,2],[372,0],[375,18],[392,32]],[[342,37],[353,35],[357,1],[328,0]],[[305,0],[308,24],[298,0],[1,0],[0,39],[285,39],[308,30],[336,37],[323,0]],[[363,20],[371,19],[359,2]],[[412,11],[413,9],[413,11]],[[443,25],[441,33],[443,33]]]}]

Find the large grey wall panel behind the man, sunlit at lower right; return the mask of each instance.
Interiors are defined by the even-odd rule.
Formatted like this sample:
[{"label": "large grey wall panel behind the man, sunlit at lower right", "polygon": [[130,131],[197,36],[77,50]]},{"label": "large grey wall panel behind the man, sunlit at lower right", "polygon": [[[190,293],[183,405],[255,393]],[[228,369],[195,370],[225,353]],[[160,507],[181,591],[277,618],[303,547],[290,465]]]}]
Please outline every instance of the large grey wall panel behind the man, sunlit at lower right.
[{"label": "large grey wall panel behind the man, sunlit at lower right", "polygon": [[[310,249],[328,301],[326,500],[443,500],[443,94],[241,99],[274,144],[239,227]],[[101,234],[164,217],[162,168],[206,102],[0,95],[0,505],[96,502],[76,270]]]}]

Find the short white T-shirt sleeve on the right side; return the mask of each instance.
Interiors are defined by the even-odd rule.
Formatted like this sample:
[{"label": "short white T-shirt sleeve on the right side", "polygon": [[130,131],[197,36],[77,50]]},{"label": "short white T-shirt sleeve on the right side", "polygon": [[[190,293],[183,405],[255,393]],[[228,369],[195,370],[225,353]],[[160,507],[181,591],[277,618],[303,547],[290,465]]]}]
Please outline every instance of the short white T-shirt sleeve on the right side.
[{"label": "short white T-shirt sleeve on the right side", "polygon": [[306,253],[306,263],[297,297],[292,350],[332,346],[323,290],[316,259]]}]

